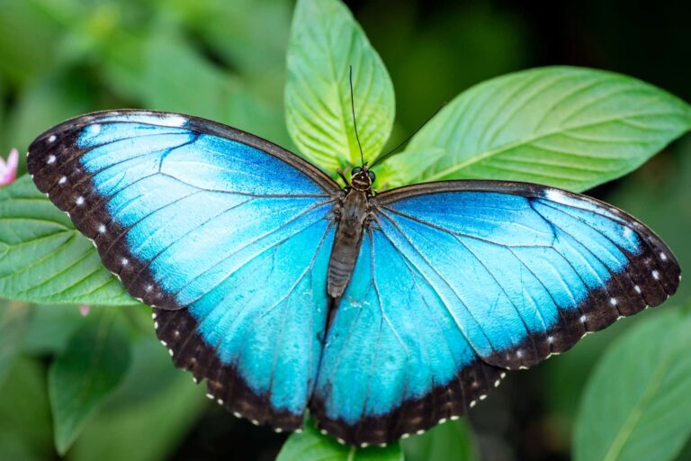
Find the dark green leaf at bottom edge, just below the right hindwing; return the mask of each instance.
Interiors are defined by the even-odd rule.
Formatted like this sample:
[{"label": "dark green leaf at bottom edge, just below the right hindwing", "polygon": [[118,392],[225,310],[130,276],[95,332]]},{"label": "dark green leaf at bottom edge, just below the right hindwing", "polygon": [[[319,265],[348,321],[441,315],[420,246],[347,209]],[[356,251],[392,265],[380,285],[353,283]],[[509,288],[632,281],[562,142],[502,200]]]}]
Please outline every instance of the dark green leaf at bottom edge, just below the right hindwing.
[{"label": "dark green leaf at bottom edge, just below the right hindwing", "polygon": [[478,459],[468,420],[448,421],[421,436],[401,441],[406,461],[471,461]]}]

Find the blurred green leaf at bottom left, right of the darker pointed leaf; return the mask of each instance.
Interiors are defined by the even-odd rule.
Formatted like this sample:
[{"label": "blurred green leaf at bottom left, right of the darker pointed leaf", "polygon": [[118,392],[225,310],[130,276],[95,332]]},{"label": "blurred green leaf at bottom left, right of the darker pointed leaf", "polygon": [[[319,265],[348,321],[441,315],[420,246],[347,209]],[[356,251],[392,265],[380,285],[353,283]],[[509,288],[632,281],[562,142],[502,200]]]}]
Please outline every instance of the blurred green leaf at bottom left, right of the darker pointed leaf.
[{"label": "blurred green leaf at bottom left, right of the darker pointed leaf", "polygon": [[71,461],[167,459],[208,408],[205,386],[175,369],[152,333],[133,343],[128,375],[70,449]]}]

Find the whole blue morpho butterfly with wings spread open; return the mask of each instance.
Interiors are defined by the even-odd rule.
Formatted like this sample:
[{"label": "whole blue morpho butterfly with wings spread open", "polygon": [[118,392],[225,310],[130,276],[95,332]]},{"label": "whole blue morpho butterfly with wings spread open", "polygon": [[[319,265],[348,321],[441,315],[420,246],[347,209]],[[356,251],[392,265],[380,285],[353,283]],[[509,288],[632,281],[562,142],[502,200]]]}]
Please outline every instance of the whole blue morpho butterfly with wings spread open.
[{"label": "whole blue morpho butterfly with wings spread open", "polygon": [[669,248],[552,187],[340,187],[243,131],[92,113],[31,144],[40,191],[154,307],[175,365],[237,416],[381,445],[453,420],[583,335],[678,287]]}]

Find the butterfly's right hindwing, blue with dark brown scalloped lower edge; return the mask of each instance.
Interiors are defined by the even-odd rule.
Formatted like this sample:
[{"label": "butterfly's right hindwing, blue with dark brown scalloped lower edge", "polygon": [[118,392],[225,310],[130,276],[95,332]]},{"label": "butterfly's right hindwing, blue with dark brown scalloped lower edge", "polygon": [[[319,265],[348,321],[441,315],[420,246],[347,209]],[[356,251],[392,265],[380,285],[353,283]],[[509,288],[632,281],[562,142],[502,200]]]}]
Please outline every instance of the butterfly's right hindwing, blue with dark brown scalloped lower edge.
[{"label": "butterfly's right hindwing, blue with dark brown scalloped lower edge", "polygon": [[503,371],[482,362],[424,275],[370,230],[328,331],[310,410],[346,443],[374,446],[456,419]]}]

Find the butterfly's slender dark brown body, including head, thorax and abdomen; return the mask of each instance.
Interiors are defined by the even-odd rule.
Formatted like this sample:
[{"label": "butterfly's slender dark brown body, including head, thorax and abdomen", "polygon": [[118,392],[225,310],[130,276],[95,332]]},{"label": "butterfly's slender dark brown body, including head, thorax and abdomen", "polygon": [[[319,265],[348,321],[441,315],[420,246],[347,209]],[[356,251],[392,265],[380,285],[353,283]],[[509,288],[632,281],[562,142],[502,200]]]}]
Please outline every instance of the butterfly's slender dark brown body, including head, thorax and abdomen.
[{"label": "butterfly's slender dark brown body, including head, thorax and abdomen", "polygon": [[334,246],[328,261],[328,295],[338,299],[346,291],[353,275],[357,255],[363,241],[363,231],[370,219],[372,180],[366,168],[354,170],[351,185],[344,189],[334,207],[337,221]]}]

